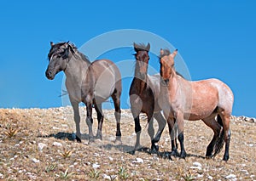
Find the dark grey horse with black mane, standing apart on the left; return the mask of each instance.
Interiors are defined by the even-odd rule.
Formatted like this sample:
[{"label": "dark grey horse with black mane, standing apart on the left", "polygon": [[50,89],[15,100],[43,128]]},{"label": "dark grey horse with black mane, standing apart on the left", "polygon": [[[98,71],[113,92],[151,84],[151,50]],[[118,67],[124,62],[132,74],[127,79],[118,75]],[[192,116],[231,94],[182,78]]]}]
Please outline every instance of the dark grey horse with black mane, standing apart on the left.
[{"label": "dark grey horse with black mane, standing apart on the left", "polygon": [[50,42],[49,65],[45,76],[53,80],[55,75],[64,71],[67,93],[73,107],[73,119],[76,124],[76,140],[81,142],[79,103],[86,105],[86,123],[89,127],[89,141],[93,140],[92,108],[96,110],[98,128],[96,139],[102,139],[103,112],[102,103],[109,97],[113,99],[116,119],[116,140],[120,140],[120,95],[122,92],[119,69],[109,59],[90,60],[71,42]]}]

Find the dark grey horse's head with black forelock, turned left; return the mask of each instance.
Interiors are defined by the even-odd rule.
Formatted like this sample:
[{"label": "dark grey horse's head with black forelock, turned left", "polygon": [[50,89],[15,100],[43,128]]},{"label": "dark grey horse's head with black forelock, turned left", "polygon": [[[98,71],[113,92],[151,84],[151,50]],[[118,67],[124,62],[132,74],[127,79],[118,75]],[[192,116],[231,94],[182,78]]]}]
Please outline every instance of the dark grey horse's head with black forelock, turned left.
[{"label": "dark grey horse's head with black forelock, turned left", "polygon": [[50,46],[51,48],[48,54],[49,65],[45,71],[45,76],[53,80],[58,72],[65,71],[69,59],[72,58],[70,51],[73,52],[73,48],[75,47],[69,42],[59,42],[56,44],[50,42]]}]

